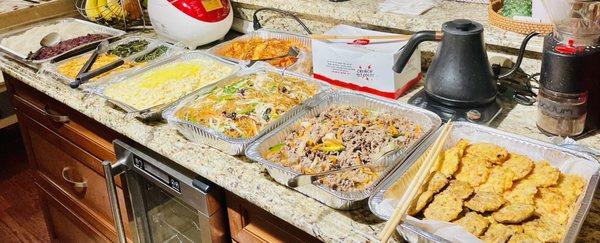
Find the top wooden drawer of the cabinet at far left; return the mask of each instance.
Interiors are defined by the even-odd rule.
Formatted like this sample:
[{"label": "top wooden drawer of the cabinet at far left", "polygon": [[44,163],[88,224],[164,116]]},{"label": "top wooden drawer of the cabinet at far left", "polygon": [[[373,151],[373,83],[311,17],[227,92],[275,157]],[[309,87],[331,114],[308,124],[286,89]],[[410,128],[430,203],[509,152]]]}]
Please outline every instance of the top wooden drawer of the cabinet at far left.
[{"label": "top wooden drawer of the cabinet at far left", "polygon": [[[13,92],[13,105],[67,140],[102,160],[115,160],[112,141],[118,134],[78,111],[28,85],[5,76]],[[102,173],[100,165],[94,168]]]}]

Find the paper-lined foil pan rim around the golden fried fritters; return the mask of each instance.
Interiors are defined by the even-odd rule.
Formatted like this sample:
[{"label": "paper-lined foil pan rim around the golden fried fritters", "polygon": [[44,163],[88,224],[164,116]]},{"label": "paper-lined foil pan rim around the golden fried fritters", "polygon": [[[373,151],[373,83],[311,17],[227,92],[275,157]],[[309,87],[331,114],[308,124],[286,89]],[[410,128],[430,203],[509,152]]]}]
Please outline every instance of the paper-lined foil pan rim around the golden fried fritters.
[{"label": "paper-lined foil pan rim around the golden fried fritters", "polygon": [[[439,134],[439,130],[436,134]],[[413,164],[419,159],[419,157],[427,150],[427,148],[434,142],[436,136],[429,137],[424,143],[422,143],[417,150],[406,160],[401,167],[399,167],[394,173],[388,176],[379,186],[375,189],[373,195],[369,198],[369,209],[377,217],[388,220],[390,218],[390,211],[383,210],[380,206],[384,200],[384,194],[386,191],[400,180],[402,176],[413,166]],[[572,149],[563,148],[550,143],[534,140],[524,136],[500,131],[494,128],[489,128],[468,122],[454,122],[453,130],[450,133],[448,140],[444,145],[444,149],[447,149],[454,145],[458,139],[465,138],[469,142],[489,142],[499,146],[505,147],[510,152],[526,155],[534,160],[546,160],[546,161],[588,161],[598,163],[598,161],[588,153],[575,151]],[[581,228],[584,219],[589,211],[594,192],[598,185],[598,179],[600,174],[598,171],[587,181],[585,191],[580,196],[576,212],[570,220],[568,230],[565,234],[563,242],[575,242],[579,229]],[[404,236],[405,239],[410,242],[448,242],[444,238],[425,231],[424,229],[410,224],[402,223],[397,227],[399,233]]]}]

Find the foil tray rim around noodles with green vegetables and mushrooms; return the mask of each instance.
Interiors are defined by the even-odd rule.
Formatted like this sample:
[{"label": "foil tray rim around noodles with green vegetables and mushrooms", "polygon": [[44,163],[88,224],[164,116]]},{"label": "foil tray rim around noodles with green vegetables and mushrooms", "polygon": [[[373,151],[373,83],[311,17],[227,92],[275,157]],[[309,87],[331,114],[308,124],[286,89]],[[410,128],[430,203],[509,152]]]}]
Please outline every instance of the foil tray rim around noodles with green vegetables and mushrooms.
[{"label": "foil tray rim around noodles with green vegetables and mushrooms", "polygon": [[[309,76],[299,74],[299,73],[285,72],[280,69],[276,69],[272,66],[258,65],[258,66],[252,67],[252,68],[244,69],[241,72],[237,73],[236,75],[231,76],[227,79],[224,79],[224,80],[218,82],[213,87],[203,88],[199,92],[194,93],[193,95],[190,95],[190,96],[180,100],[179,102],[177,102],[176,104],[174,104],[173,106],[171,106],[165,110],[165,112],[163,113],[163,118],[165,118],[170,124],[173,124],[174,126],[176,126],[178,128],[179,132],[192,142],[200,142],[200,143],[207,144],[211,147],[219,149],[230,155],[243,154],[244,150],[251,142],[253,142],[254,140],[263,136],[264,134],[272,131],[273,129],[278,127],[280,124],[286,122],[289,118],[293,117],[294,115],[296,115],[297,113],[302,111],[304,109],[304,106],[302,104],[300,104],[299,106],[292,108],[290,111],[288,111],[284,115],[282,115],[278,120],[273,121],[269,125],[265,126],[256,136],[254,136],[252,138],[246,138],[246,139],[231,138],[229,136],[226,136],[220,132],[217,132],[213,129],[202,126],[200,124],[181,120],[175,116],[175,113],[181,107],[204,96],[205,94],[210,92],[213,88],[227,86],[230,83],[236,81],[239,77],[243,77],[243,76],[250,75],[253,73],[257,73],[257,72],[277,72],[277,73],[281,73],[284,76],[296,77],[296,78],[304,79],[307,82],[315,83],[315,84],[319,85],[319,87],[320,87],[320,90],[315,95],[315,97],[318,97],[319,95],[323,94],[324,91],[330,89],[330,86],[328,84],[318,81],[316,79],[313,79]],[[314,100],[315,97],[309,98],[308,100],[305,101],[305,103],[311,102],[312,100]]]}]

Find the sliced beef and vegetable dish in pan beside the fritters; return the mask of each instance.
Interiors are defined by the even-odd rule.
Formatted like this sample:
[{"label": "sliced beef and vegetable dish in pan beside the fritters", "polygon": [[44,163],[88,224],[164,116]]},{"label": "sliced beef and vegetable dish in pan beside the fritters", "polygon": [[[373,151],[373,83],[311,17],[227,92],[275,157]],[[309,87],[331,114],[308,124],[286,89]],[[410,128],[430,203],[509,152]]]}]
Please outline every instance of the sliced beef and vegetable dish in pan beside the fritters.
[{"label": "sliced beef and vegetable dish in pan beside the fritters", "polygon": [[[263,153],[269,161],[302,174],[356,165],[376,165],[389,151],[406,148],[423,136],[421,126],[395,113],[349,105],[330,106],[293,125],[285,139]],[[371,185],[380,171],[362,167],[319,179],[337,191]]]}]

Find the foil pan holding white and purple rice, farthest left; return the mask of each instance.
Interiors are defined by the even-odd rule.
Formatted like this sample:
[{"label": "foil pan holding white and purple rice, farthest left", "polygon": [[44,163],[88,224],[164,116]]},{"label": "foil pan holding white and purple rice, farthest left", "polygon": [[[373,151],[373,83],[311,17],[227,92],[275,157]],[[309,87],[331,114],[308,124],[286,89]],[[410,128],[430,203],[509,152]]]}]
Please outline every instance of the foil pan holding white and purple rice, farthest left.
[{"label": "foil pan holding white and purple rice, farthest left", "polygon": [[[24,33],[25,31],[27,31],[27,30],[29,30],[29,29],[31,29],[33,27],[44,26],[44,25],[51,25],[51,24],[58,24],[58,23],[68,23],[68,22],[78,22],[78,23],[81,23],[81,24],[89,25],[95,31],[94,33],[109,34],[111,36],[107,37],[107,38],[104,38],[104,39],[101,39],[101,40],[97,40],[97,41],[93,41],[93,42],[90,42],[90,43],[86,43],[84,45],[75,47],[75,48],[73,48],[73,49],[71,49],[69,51],[63,52],[63,53],[58,54],[56,56],[53,56],[53,57],[50,57],[50,58],[46,58],[46,59],[41,59],[41,60],[27,60],[27,55],[20,54],[17,51],[15,51],[15,50],[7,47],[7,46],[4,46],[4,45],[0,45],[0,51],[2,51],[3,53],[7,54],[8,56],[12,57],[13,59],[15,59],[15,60],[17,60],[19,62],[27,64],[28,66],[31,66],[31,67],[34,67],[34,68],[39,68],[42,63],[50,61],[50,60],[52,60],[54,58],[61,57],[63,55],[67,55],[70,52],[77,51],[77,50],[79,50],[81,48],[84,48],[86,46],[95,45],[97,43],[100,43],[103,40],[114,39],[114,38],[120,37],[120,36],[122,36],[122,35],[125,34],[125,31],[114,29],[114,28],[111,28],[111,27],[108,27],[108,26],[104,26],[104,25],[95,24],[95,23],[92,23],[92,22],[89,22],[89,21],[85,21],[85,20],[81,20],[81,19],[76,19],[76,18],[58,18],[58,19],[53,19],[53,20],[39,22],[39,23],[36,23],[36,24],[33,24],[33,25],[28,25],[28,26],[25,26],[25,27],[22,27],[22,28],[17,28],[17,29],[14,29],[12,31],[3,33],[2,35],[0,35],[0,43],[2,42],[2,40],[4,38],[15,36],[15,35],[20,35],[20,34]],[[82,33],[82,35],[85,35],[85,34],[92,34],[92,33]]]}]

